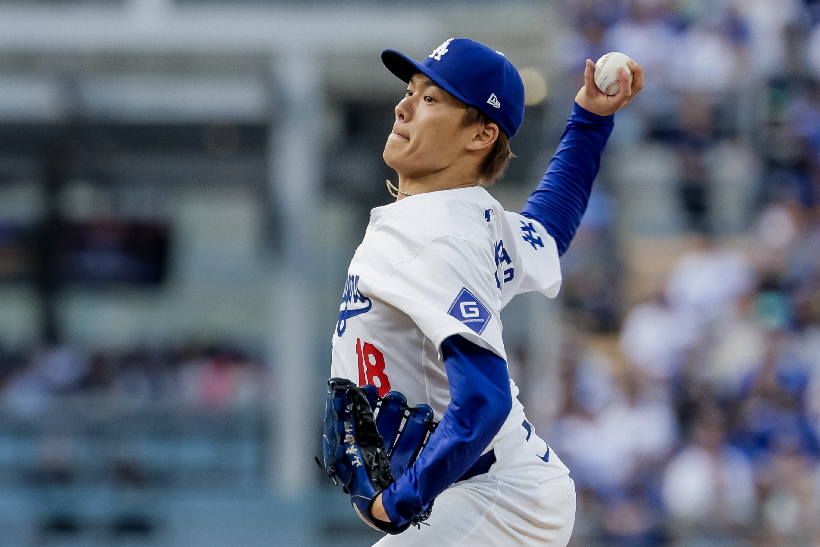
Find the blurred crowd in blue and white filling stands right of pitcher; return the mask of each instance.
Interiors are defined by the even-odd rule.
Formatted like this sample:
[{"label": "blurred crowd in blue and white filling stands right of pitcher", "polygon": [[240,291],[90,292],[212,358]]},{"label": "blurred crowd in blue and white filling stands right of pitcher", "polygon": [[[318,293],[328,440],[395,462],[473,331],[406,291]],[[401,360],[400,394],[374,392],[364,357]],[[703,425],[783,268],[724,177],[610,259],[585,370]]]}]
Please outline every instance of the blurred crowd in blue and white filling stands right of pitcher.
[{"label": "blurred crowd in blue and white filling stands right of pitcher", "polygon": [[[613,144],[669,151],[684,215],[663,235],[688,249],[631,298],[641,280],[612,250],[626,245],[604,168],[565,258],[581,320],[550,440],[579,492],[575,540],[820,545],[820,2],[567,12],[568,74],[609,51],[645,66]],[[727,165],[744,191],[727,190]],[[617,344],[590,343],[607,335]]]}]

